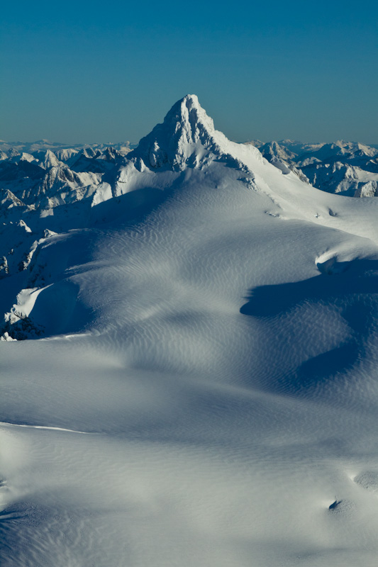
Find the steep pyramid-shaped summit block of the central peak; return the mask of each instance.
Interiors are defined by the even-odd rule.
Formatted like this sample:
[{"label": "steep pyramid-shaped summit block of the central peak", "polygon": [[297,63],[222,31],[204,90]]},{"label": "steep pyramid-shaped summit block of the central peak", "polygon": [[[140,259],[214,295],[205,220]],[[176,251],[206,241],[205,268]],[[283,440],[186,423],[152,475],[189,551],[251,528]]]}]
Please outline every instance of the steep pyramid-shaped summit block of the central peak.
[{"label": "steep pyramid-shaped summit block of the central peak", "polygon": [[213,119],[201,107],[195,94],[177,101],[152,132],[143,137],[128,157],[138,157],[148,167],[169,167],[181,171],[228,153],[230,141],[215,130]]}]

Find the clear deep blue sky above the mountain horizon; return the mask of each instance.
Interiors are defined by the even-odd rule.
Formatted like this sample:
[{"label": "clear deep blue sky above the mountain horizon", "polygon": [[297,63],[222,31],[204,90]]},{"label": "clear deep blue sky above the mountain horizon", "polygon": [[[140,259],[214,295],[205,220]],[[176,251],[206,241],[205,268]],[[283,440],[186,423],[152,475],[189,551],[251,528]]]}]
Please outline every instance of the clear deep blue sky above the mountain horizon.
[{"label": "clear deep blue sky above the mountain horizon", "polygon": [[138,141],[197,94],[233,140],[378,143],[376,1],[6,1],[3,140]]}]

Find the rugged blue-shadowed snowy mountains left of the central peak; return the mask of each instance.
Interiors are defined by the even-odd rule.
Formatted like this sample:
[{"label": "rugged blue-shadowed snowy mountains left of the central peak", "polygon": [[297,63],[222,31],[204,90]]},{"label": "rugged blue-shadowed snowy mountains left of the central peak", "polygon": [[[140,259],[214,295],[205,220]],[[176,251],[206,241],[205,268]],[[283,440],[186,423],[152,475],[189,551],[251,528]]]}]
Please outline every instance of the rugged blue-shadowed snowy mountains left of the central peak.
[{"label": "rugged blue-shadowed snowy mountains left of the central peak", "polygon": [[[89,209],[101,182],[125,163],[131,151],[130,145],[64,148],[46,140],[23,146],[4,142],[2,147],[6,154],[0,161],[0,279],[24,269],[35,242],[49,230],[46,225],[57,230],[76,226],[77,219],[73,225],[70,220],[71,209],[63,213],[62,206],[84,199],[88,201],[84,209]],[[33,153],[24,152],[26,149]],[[57,221],[62,215],[65,220]],[[50,220],[38,220],[45,217]],[[29,218],[34,227],[31,236],[16,237],[20,221],[27,225]]]}]

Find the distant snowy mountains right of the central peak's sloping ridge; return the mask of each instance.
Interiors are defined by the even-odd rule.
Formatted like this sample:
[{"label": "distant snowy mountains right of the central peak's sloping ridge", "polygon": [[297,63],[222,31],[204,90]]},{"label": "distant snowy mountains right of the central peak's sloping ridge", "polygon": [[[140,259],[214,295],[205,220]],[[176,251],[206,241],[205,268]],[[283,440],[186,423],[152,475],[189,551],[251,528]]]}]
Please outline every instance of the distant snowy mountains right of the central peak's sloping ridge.
[{"label": "distant snowy mountains right of the central peak's sloping ridge", "polygon": [[[254,144],[256,145],[256,144]],[[292,140],[257,143],[270,163],[287,168],[314,187],[350,197],[378,196],[378,150],[356,142],[301,144]]]}]

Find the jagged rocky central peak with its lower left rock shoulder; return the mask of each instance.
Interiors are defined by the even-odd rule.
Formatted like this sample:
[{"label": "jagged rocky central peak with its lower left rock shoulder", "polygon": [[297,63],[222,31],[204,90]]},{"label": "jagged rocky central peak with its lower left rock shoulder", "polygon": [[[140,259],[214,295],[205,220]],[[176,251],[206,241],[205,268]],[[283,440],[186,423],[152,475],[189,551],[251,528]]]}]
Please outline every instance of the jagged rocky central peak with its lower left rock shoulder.
[{"label": "jagged rocky central peak with its lower left rock shoulder", "polygon": [[213,120],[201,108],[197,97],[187,95],[174,104],[163,123],[140,140],[116,176],[104,176],[107,183],[99,186],[92,203],[99,204],[112,196],[143,188],[158,186],[165,190],[184,170],[202,170],[217,163],[239,169],[245,174],[243,179],[253,184],[254,174],[248,165],[251,159],[264,161],[257,148],[231,142],[215,130]]}]

